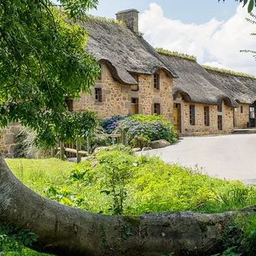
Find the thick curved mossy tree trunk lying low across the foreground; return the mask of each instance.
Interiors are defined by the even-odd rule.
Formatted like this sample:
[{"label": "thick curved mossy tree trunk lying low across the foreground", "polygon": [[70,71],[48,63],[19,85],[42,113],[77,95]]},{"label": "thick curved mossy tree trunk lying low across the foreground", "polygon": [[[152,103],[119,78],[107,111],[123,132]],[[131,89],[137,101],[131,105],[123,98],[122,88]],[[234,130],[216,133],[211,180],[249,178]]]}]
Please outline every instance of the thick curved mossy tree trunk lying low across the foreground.
[{"label": "thick curved mossy tree trunk lying low across the foreground", "polygon": [[38,196],[0,157],[0,225],[39,235],[32,246],[37,251],[86,256],[203,254],[218,243],[223,226],[235,214],[92,214]]}]

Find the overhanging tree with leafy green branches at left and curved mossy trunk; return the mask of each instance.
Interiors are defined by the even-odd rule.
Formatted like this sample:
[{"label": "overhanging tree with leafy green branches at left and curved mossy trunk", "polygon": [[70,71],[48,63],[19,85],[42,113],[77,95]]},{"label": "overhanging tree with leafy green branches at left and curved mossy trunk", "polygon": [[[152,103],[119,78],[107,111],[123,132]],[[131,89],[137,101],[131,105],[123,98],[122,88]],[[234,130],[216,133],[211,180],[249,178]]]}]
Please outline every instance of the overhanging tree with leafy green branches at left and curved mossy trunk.
[{"label": "overhanging tree with leafy green branches at left and curved mossy trunk", "polygon": [[[64,138],[63,100],[89,92],[99,76],[86,54],[83,21],[97,0],[0,0],[0,123],[20,121],[53,142]],[[59,128],[59,129],[58,129]],[[0,225],[39,235],[33,248],[59,255],[160,255],[182,248],[208,251],[230,216],[192,213],[102,216],[71,209],[33,193],[0,157]]]}]

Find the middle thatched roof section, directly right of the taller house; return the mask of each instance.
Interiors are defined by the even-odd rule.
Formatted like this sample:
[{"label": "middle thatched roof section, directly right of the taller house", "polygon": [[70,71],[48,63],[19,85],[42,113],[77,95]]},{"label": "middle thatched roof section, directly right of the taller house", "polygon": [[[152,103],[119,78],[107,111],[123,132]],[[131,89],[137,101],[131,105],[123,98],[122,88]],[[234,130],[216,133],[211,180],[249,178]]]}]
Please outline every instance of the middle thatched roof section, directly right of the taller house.
[{"label": "middle thatched roof section, directly right of the taller house", "polygon": [[186,102],[219,105],[224,100],[226,105],[238,107],[231,95],[209,81],[211,78],[209,73],[195,60],[159,54],[166,66],[175,70],[179,76],[178,79],[173,79],[174,99],[180,93]]}]

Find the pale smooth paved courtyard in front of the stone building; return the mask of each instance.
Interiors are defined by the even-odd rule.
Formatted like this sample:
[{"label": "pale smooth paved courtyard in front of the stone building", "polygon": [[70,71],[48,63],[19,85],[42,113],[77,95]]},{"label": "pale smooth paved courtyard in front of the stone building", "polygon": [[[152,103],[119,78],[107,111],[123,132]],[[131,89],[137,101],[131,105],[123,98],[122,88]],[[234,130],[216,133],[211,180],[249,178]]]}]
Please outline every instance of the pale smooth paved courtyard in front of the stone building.
[{"label": "pale smooth paved courtyard in front of the stone building", "polygon": [[140,154],[202,168],[212,177],[256,183],[256,134],[187,137],[177,144]]}]

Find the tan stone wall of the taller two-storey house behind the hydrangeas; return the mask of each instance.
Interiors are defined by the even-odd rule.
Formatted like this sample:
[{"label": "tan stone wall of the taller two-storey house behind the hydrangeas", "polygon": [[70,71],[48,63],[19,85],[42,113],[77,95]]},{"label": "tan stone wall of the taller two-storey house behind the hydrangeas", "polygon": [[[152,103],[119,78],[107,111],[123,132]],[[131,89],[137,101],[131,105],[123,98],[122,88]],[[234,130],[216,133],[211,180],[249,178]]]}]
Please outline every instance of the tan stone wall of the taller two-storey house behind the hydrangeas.
[{"label": "tan stone wall of the taller two-storey house behind the hydrangeas", "polygon": [[160,114],[165,119],[173,120],[173,79],[160,71],[160,89],[154,89],[153,75],[138,75],[138,91],[131,86],[124,86],[112,79],[109,69],[102,66],[102,79],[96,81],[95,88],[102,89],[102,102],[96,101],[95,89],[92,95],[82,93],[79,101],[73,102],[73,109],[86,109],[96,112],[100,118],[113,115],[131,114],[131,98],[138,99],[138,113],[154,114],[154,103],[160,104]]}]

